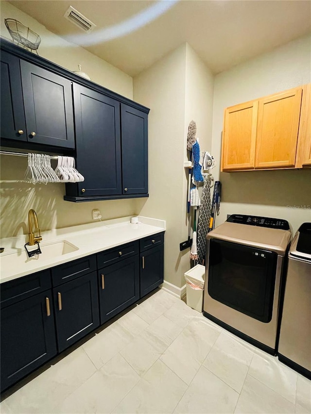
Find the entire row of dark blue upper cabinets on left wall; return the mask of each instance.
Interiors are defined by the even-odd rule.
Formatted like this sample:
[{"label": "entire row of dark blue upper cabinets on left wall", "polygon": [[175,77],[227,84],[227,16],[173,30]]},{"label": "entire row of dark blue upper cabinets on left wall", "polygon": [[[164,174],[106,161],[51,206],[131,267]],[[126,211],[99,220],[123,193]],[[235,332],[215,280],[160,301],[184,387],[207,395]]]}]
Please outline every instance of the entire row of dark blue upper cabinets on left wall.
[{"label": "entire row of dark blue upper cabinets on left wall", "polygon": [[65,200],[148,197],[149,108],[11,42],[0,47],[1,144],[76,156],[85,181],[66,184]]}]

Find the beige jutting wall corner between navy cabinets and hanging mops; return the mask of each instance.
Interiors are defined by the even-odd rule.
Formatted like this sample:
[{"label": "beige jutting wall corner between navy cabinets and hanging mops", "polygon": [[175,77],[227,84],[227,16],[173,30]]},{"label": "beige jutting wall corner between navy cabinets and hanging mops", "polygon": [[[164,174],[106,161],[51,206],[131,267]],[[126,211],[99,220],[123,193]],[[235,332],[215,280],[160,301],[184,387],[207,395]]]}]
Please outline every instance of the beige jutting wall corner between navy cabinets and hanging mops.
[{"label": "beige jutting wall corner between navy cabinets and hanging mops", "polygon": [[140,214],[167,220],[164,279],[181,287],[190,268],[187,174],[183,166],[188,124],[197,123],[201,148],[211,137],[213,77],[189,45],[184,44],[134,78],[134,99],[151,107],[149,114],[149,191]]}]

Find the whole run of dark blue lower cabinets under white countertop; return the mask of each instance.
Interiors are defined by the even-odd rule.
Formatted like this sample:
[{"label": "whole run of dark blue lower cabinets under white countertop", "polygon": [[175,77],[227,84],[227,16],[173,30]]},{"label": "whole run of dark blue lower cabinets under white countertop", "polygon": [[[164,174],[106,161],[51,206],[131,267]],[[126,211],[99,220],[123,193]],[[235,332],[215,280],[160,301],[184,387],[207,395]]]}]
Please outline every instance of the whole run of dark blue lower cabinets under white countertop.
[{"label": "whole run of dark blue lower cabinets under white countertop", "polygon": [[95,256],[56,266],[52,289],[49,269],[3,284],[1,392],[158,287],[163,248],[163,236],[155,235],[141,240],[140,254],[138,242],[99,253],[100,270]]}]

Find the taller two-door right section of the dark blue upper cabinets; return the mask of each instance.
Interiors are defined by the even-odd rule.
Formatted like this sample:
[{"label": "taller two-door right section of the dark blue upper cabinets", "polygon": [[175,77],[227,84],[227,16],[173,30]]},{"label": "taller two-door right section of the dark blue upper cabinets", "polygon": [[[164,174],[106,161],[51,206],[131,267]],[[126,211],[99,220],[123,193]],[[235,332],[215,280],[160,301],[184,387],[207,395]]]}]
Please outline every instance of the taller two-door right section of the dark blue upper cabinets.
[{"label": "taller two-door right section of the dark blue upper cabinets", "polygon": [[[77,169],[65,200],[148,197],[148,110],[73,84]],[[136,107],[134,107],[136,106]]]}]

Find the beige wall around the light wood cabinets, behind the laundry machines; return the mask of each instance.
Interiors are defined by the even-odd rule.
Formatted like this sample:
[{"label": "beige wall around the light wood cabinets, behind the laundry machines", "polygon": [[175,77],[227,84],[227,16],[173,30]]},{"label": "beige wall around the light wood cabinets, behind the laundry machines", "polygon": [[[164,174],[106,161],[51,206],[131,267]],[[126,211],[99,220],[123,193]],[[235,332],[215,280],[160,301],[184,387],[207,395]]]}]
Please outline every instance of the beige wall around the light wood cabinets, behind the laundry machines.
[{"label": "beige wall around the light wood cabinets, behind the laundry machines", "polygon": [[235,213],[284,218],[294,231],[302,222],[311,221],[311,169],[220,173],[224,109],[310,82],[310,36],[215,77],[212,154],[218,167],[213,173],[222,182],[221,210],[216,226],[227,214]]}]

